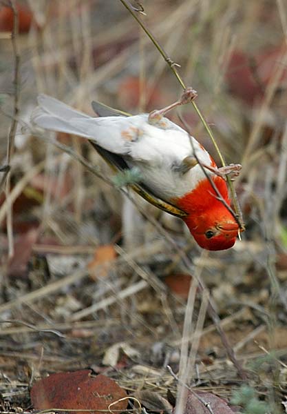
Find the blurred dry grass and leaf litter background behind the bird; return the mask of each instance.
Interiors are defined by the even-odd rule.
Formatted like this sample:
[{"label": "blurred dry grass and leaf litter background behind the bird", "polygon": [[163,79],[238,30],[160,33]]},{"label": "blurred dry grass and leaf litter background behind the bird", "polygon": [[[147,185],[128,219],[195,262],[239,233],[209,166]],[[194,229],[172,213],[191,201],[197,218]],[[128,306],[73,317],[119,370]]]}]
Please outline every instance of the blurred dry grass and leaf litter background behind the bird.
[{"label": "blurred dry grass and leaf litter background behind the bird", "polygon": [[[5,3],[0,1],[1,166],[9,161],[15,111],[12,19]],[[176,395],[178,382],[167,365],[178,373],[187,310],[184,382],[228,401],[248,384],[269,404],[260,412],[285,412],[286,1],[142,0],[147,15],[141,19],[180,63],[184,82],[198,90],[198,106],[226,160],[243,166],[235,186],[246,232],[234,248],[216,253],[198,248],[181,221],[137,197],[136,208],[30,129],[39,92],[90,115],[92,100],[136,114],[180,96],[176,77],[123,4],[17,4],[23,7],[15,39],[18,126],[14,143],[10,136],[11,171],[8,177],[0,172],[8,179],[0,198],[1,410],[30,411],[35,380],[87,367],[113,377],[130,395],[149,390],[165,397],[168,389]],[[216,159],[193,108],[181,111]],[[179,122],[176,112],[170,117]],[[56,138],[111,177],[83,139]],[[202,294],[193,285],[187,304],[196,278],[206,288]],[[209,300],[230,346],[214,313],[206,312]],[[231,348],[237,366],[228,358]]]}]

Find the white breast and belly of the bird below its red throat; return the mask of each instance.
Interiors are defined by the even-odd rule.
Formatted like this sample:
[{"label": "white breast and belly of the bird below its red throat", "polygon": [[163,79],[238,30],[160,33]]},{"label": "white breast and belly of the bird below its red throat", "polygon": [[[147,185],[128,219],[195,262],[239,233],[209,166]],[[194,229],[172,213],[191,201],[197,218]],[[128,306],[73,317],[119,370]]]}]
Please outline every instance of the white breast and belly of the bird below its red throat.
[{"label": "white breast and belly of the bird below its red throat", "polygon": [[[187,132],[179,127],[161,130],[149,124],[145,124],[142,137],[130,146],[127,163],[130,167],[137,166],[140,169],[142,181],[159,197],[167,200],[182,197],[205,178],[199,165],[185,174],[174,168],[180,166],[185,157],[193,155],[190,139],[200,161],[210,166],[209,153]],[[206,172],[209,173],[208,170]]]}]

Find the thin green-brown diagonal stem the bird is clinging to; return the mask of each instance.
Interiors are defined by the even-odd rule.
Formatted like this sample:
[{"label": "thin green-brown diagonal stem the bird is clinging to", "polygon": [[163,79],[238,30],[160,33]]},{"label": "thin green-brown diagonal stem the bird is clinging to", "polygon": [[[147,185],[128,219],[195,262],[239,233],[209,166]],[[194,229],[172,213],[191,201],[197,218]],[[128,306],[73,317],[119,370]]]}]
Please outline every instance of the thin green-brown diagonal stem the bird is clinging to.
[{"label": "thin green-brown diagonal stem the bird is clinging to", "polygon": [[[180,83],[180,86],[182,86],[183,89],[186,89],[184,81],[182,80],[182,78],[180,77],[180,75],[178,73],[178,70],[176,69],[176,66],[180,66],[180,65],[178,65],[178,63],[173,62],[171,60],[171,58],[167,55],[167,53],[164,51],[162,46],[160,46],[160,43],[158,43],[158,41],[155,39],[153,34],[150,32],[150,30],[145,26],[145,24],[142,22],[142,20],[138,17],[137,10],[135,10],[134,8],[131,8],[131,6],[129,5],[129,2],[126,1],[126,0],[120,0],[120,2],[123,4],[123,6],[125,6],[125,8],[127,8],[129,13],[134,17],[134,19],[140,25],[142,30],[144,30],[144,32],[147,34],[149,39],[152,41],[153,45],[156,46],[156,49],[158,50],[158,52],[160,52],[160,55],[162,55],[164,60],[169,65],[169,68],[171,68],[171,70],[173,71],[173,74],[176,76],[176,79],[178,79],[178,82]],[[193,105],[193,108],[195,109],[195,112],[198,114],[198,117],[200,117],[200,121],[202,121],[202,124],[203,124],[204,128],[206,129],[206,132],[209,134],[209,137],[210,137],[210,139],[213,143],[213,146],[215,147],[215,150],[218,154],[218,157],[220,158],[220,162],[222,163],[222,166],[226,166],[226,162],[224,160],[224,157],[223,157],[222,153],[220,152],[220,148],[217,146],[217,142],[215,141],[215,138],[213,137],[213,132],[211,131],[211,128],[209,127],[209,124],[207,124],[206,120],[204,119],[204,117],[203,117],[200,109],[198,108],[197,104],[195,103],[195,101],[191,101],[191,103]],[[231,192],[231,199],[233,201],[233,206],[235,208],[236,217],[238,217],[237,222],[240,225],[240,229],[245,230],[243,219],[242,219],[242,213],[241,213],[241,210],[240,210],[240,205],[238,203],[237,196],[236,196],[236,193],[235,193],[235,188],[233,186],[233,183],[232,183],[230,177],[227,176],[226,181],[227,181],[227,184],[228,184],[228,188]]]}]

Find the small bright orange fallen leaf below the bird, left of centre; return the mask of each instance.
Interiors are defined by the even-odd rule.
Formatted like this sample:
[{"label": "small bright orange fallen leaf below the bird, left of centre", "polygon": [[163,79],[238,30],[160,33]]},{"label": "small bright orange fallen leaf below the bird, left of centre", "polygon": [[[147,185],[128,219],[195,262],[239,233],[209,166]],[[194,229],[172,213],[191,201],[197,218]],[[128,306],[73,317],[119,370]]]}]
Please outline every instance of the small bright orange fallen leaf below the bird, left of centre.
[{"label": "small bright orange fallen leaf below the bird, left of centre", "polygon": [[[116,250],[113,245],[107,244],[96,248],[94,259],[87,265],[92,279],[96,280],[97,277],[107,277],[109,267],[114,259],[116,259]],[[98,265],[101,265],[100,268],[96,267]]]}]

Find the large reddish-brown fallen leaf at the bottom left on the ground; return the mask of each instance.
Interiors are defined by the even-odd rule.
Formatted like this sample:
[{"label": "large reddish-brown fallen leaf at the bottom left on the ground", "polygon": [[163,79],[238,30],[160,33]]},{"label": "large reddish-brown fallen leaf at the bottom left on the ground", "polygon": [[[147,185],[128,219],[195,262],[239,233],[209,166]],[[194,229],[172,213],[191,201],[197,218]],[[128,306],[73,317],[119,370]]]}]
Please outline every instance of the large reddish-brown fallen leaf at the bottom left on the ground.
[{"label": "large reddish-brown fallen leaf at the bottom left on the ground", "polygon": [[[31,390],[34,408],[53,409],[53,411],[56,408],[83,409],[94,410],[93,413],[100,414],[101,410],[108,410],[110,404],[116,402],[112,405],[112,410],[124,411],[128,400],[118,400],[127,397],[125,390],[111,378],[105,375],[93,377],[91,373],[92,371],[88,369],[72,373],[56,373],[36,382]],[[77,411],[77,414],[84,413],[85,411]]]}]

